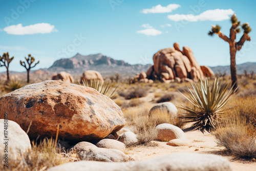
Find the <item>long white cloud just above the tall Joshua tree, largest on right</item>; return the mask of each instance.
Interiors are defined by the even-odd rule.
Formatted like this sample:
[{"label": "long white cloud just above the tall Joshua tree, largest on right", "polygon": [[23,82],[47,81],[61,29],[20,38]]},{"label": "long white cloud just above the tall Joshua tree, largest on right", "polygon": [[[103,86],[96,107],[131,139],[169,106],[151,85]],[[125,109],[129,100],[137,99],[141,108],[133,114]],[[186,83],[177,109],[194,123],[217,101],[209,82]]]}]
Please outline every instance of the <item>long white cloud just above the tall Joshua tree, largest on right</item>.
[{"label": "long white cloud just above the tall Joshua tree, largest on right", "polygon": [[215,9],[215,10],[207,10],[202,12],[199,15],[193,15],[193,14],[174,14],[174,15],[168,15],[167,17],[170,20],[174,20],[175,22],[178,22],[180,20],[188,20],[189,22],[197,22],[205,21],[205,20],[211,20],[211,21],[222,21],[225,19],[229,19],[229,15],[232,15],[234,13],[233,10],[228,9]]}]

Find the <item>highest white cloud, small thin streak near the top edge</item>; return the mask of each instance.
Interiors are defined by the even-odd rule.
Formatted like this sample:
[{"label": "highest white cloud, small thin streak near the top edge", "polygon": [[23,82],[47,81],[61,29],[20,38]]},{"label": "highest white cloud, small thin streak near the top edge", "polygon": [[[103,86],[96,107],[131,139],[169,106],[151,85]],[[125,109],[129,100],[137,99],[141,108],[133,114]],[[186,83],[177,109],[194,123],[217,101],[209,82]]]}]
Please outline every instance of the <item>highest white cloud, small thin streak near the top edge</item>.
[{"label": "highest white cloud, small thin streak near the top edge", "polygon": [[144,14],[148,13],[167,13],[172,12],[173,10],[176,10],[177,8],[181,7],[179,4],[169,4],[166,7],[162,7],[160,4],[157,6],[153,6],[150,9],[143,9],[140,12]]}]

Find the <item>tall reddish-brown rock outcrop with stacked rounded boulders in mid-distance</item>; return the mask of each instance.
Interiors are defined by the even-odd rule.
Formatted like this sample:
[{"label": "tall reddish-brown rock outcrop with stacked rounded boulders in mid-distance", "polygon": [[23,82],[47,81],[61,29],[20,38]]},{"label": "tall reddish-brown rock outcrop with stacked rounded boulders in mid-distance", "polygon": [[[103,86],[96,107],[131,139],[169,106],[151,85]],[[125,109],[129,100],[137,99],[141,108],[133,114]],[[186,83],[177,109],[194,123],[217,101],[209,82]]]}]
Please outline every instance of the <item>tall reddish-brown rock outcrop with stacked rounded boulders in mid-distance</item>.
[{"label": "tall reddish-brown rock outcrop with stacked rounded boulders in mid-distance", "polygon": [[[153,56],[154,65],[147,70],[147,79],[159,79],[163,82],[174,81],[176,78],[184,80],[189,78],[197,81],[203,79],[207,74],[212,75],[212,71],[207,67],[199,66],[193,51],[189,47],[180,50],[178,42],[174,48],[165,48],[158,51]],[[205,72],[203,72],[204,70]]]}]

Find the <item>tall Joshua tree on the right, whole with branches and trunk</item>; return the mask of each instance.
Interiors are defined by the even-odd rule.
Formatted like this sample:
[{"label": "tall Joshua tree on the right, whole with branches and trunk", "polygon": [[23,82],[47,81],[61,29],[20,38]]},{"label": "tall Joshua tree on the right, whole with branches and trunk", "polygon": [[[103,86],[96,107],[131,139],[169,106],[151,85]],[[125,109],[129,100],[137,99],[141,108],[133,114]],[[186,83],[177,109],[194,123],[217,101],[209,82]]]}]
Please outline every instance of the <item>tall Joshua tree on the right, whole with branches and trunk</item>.
[{"label": "tall Joshua tree on the right, whole with branches and trunk", "polygon": [[232,27],[230,28],[230,33],[229,37],[224,35],[220,30],[221,27],[219,25],[212,26],[211,31],[208,32],[208,35],[212,36],[214,33],[218,34],[220,38],[223,40],[227,41],[229,44],[229,49],[230,49],[230,72],[231,72],[231,80],[232,80],[232,85],[233,89],[236,89],[238,87],[237,84],[237,65],[236,65],[236,53],[237,51],[240,51],[242,46],[244,45],[244,42],[250,41],[251,38],[248,35],[250,33],[251,28],[248,23],[244,23],[242,25],[242,29],[244,30],[244,34],[240,38],[238,42],[236,42],[236,36],[237,33],[240,33],[240,21],[238,20],[236,14],[233,14],[231,16],[231,23]]}]

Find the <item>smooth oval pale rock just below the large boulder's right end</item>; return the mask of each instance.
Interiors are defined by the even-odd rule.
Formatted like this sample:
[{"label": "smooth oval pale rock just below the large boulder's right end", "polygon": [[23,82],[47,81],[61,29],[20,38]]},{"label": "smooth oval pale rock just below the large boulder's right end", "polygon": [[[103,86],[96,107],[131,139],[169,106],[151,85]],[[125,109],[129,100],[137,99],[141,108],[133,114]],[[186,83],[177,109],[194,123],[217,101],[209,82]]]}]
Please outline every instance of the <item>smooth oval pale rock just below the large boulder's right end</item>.
[{"label": "smooth oval pale rock just below the large boulder's right end", "polygon": [[125,144],[117,141],[117,140],[113,140],[113,139],[103,139],[100,140],[97,144],[97,147],[100,148],[109,148],[109,149],[118,149],[121,152],[125,151]]}]

